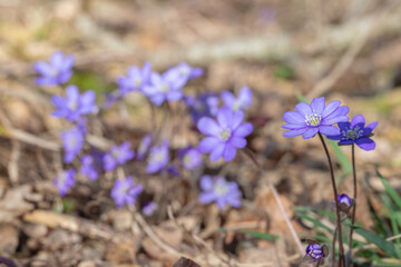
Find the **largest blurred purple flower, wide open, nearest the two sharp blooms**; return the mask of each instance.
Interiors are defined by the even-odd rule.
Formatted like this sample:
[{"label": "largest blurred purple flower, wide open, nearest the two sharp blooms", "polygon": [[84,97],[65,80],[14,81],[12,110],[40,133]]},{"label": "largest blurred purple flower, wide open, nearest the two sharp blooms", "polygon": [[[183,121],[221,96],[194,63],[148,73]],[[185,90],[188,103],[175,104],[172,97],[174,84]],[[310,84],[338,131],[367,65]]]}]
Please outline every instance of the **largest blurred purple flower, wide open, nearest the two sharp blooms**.
[{"label": "largest blurred purple flower, wide open, nearest the two sharp blooms", "polygon": [[252,123],[242,123],[243,119],[242,111],[233,112],[227,107],[218,110],[217,122],[208,117],[202,118],[197,128],[208,137],[200,141],[198,149],[209,152],[212,161],[218,160],[222,156],[226,161],[233,160],[236,149],[246,146],[245,137],[253,131]]}]

